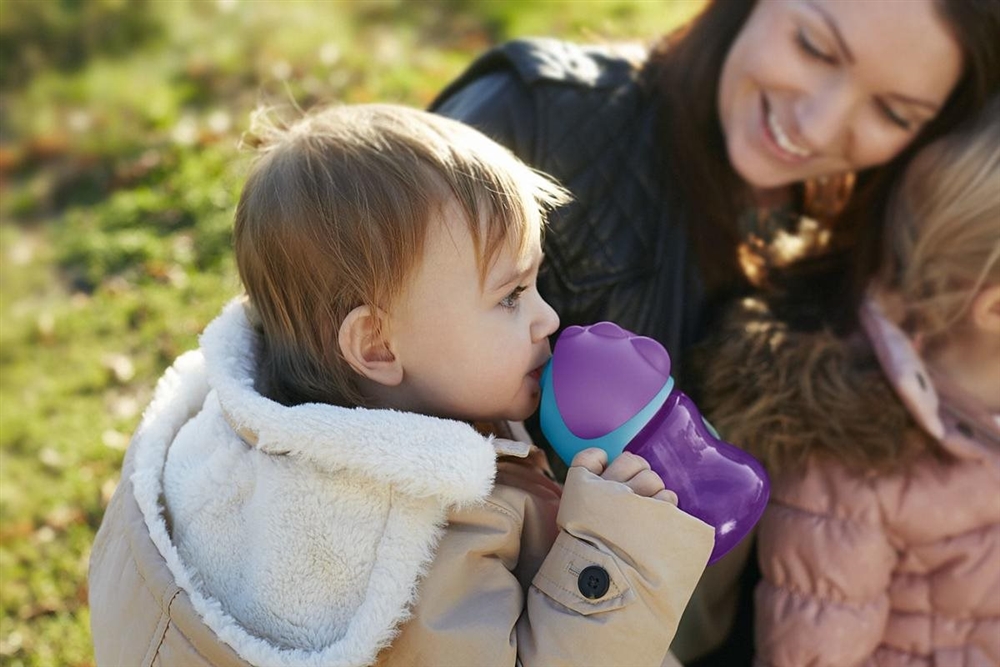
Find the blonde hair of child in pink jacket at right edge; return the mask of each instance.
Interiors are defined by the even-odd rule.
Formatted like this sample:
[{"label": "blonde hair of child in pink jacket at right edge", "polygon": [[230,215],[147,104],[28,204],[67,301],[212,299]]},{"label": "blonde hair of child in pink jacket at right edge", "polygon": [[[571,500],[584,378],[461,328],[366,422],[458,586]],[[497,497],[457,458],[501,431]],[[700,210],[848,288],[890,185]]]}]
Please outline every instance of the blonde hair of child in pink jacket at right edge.
[{"label": "blonde hair of child in pink jacket at right edge", "polygon": [[880,287],[930,344],[1000,284],[1000,97],[913,160],[889,207]]}]

